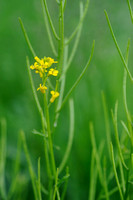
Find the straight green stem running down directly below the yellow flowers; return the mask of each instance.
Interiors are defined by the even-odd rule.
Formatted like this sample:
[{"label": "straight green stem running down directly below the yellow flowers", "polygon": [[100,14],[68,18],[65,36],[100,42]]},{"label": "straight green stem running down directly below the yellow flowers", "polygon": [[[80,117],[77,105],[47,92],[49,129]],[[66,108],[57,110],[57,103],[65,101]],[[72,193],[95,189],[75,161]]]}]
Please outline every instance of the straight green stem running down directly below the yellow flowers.
[{"label": "straight green stem running down directly below the yellow flowers", "polygon": [[46,113],[46,123],[47,123],[47,131],[48,131],[48,143],[49,143],[49,151],[50,151],[50,156],[51,156],[51,164],[52,164],[52,169],[53,169],[53,175],[56,178],[56,166],[55,166],[55,159],[54,159],[54,152],[53,152],[53,142],[52,142],[52,137],[51,137],[49,109],[47,105],[46,93],[44,94],[44,106],[45,106],[45,113]]}]

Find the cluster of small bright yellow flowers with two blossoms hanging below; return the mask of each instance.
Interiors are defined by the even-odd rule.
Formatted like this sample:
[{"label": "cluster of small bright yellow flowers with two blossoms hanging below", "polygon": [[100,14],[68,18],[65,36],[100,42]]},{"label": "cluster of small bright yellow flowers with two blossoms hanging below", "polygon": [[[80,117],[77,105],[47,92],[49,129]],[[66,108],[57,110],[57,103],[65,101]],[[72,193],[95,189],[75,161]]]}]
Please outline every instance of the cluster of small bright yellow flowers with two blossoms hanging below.
[{"label": "cluster of small bright yellow flowers with two blossoms hanging below", "polygon": [[[44,57],[42,59],[39,59],[37,56],[34,58],[35,63],[34,65],[31,65],[30,68],[35,70],[35,73],[38,73],[40,75],[40,78],[42,78],[43,84],[40,84],[40,86],[37,88],[37,91],[40,90],[43,94],[46,92],[46,81],[49,76],[57,76],[58,70],[56,68],[52,68],[53,63],[57,63],[53,58],[50,57]],[[52,90],[51,92],[51,99],[50,102],[53,103],[54,100],[59,96],[59,92]]]}]

